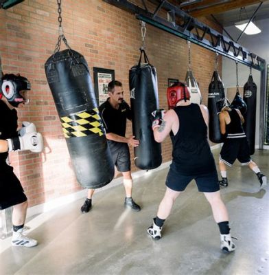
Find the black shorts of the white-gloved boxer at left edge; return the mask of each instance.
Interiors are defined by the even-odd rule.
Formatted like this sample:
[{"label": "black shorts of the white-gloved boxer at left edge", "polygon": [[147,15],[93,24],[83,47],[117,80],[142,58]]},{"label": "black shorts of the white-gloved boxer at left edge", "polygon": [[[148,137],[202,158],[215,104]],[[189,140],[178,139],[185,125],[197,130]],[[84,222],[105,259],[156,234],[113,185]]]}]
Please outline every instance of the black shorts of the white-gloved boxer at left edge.
[{"label": "black shorts of the white-gloved boxer at left edge", "polygon": [[0,170],[0,210],[27,201],[21,182],[13,173],[13,168],[1,164]]}]

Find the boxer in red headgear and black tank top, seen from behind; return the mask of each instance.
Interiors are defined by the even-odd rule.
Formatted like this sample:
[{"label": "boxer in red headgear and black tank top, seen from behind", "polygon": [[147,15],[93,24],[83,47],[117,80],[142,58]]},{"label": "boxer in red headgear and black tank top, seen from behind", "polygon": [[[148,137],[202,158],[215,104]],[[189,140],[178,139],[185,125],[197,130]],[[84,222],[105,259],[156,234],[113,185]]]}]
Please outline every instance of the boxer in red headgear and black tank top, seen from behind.
[{"label": "boxer in red headgear and black tank top, seen from behind", "polygon": [[148,228],[152,239],[161,239],[161,230],[174,201],[189,182],[195,179],[200,192],[209,201],[213,217],[220,228],[220,248],[235,250],[230,235],[229,217],[221,197],[215,161],[207,140],[209,112],[204,105],[191,103],[189,88],[176,83],[167,89],[169,111],[152,113],[152,130],[156,142],[163,142],[170,131],[174,133],[172,164],[166,179],[166,192],[156,217]]}]

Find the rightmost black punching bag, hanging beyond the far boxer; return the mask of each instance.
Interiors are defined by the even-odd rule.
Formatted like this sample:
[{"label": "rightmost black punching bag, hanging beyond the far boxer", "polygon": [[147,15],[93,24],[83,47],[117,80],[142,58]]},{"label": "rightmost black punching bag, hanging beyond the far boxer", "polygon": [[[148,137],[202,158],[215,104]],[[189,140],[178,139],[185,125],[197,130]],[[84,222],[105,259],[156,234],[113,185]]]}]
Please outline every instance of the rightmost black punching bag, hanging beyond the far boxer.
[{"label": "rightmost black punching bag, hanging beyond the far boxer", "polygon": [[253,81],[253,76],[250,74],[248,82],[244,85],[244,102],[248,107],[248,111],[244,114],[244,131],[250,155],[255,153],[255,130],[256,130],[256,102],[257,102],[257,85]]}]

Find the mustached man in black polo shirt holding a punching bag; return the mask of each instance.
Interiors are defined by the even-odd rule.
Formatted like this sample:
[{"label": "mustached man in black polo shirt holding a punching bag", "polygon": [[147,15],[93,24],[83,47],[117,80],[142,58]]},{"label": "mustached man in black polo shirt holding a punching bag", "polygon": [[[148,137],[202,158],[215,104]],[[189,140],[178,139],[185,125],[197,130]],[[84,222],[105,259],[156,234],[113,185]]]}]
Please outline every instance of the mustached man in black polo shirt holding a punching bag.
[{"label": "mustached man in black polo shirt holding a punching bag", "polygon": [[[136,147],[139,146],[139,141],[134,139],[134,136],[125,137],[126,120],[131,120],[131,110],[128,104],[124,101],[124,91],[122,84],[113,80],[108,83],[108,99],[101,104],[99,111],[106,129],[106,139],[112,155],[113,163],[117,170],[124,177],[124,188],[126,198],[124,206],[134,211],[140,211],[140,206],[132,199],[132,175],[130,172],[130,152],[128,144]],[[89,189],[87,199],[85,200],[81,211],[89,212],[91,209],[91,199],[95,189]]]}]

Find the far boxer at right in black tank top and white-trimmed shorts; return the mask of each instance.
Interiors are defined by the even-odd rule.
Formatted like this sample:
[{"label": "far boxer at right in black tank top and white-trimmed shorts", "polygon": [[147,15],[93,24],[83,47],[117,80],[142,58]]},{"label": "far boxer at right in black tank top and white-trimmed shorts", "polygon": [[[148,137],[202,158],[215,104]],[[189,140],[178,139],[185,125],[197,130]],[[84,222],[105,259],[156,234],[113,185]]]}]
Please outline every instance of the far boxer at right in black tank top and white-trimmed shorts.
[{"label": "far boxer at right in black tank top and white-trimmed shorts", "polygon": [[242,166],[248,165],[253,170],[259,179],[260,187],[264,188],[267,185],[267,177],[261,173],[257,164],[250,158],[248,141],[242,126],[244,123],[242,113],[238,109],[231,108],[226,98],[219,100],[217,106],[220,111],[220,132],[224,135],[224,144],[219,157],[222,176],[222,180],[219,181],[220,186],[228,186],[226,165],[232,166],[235,159],[238,159]]}]

